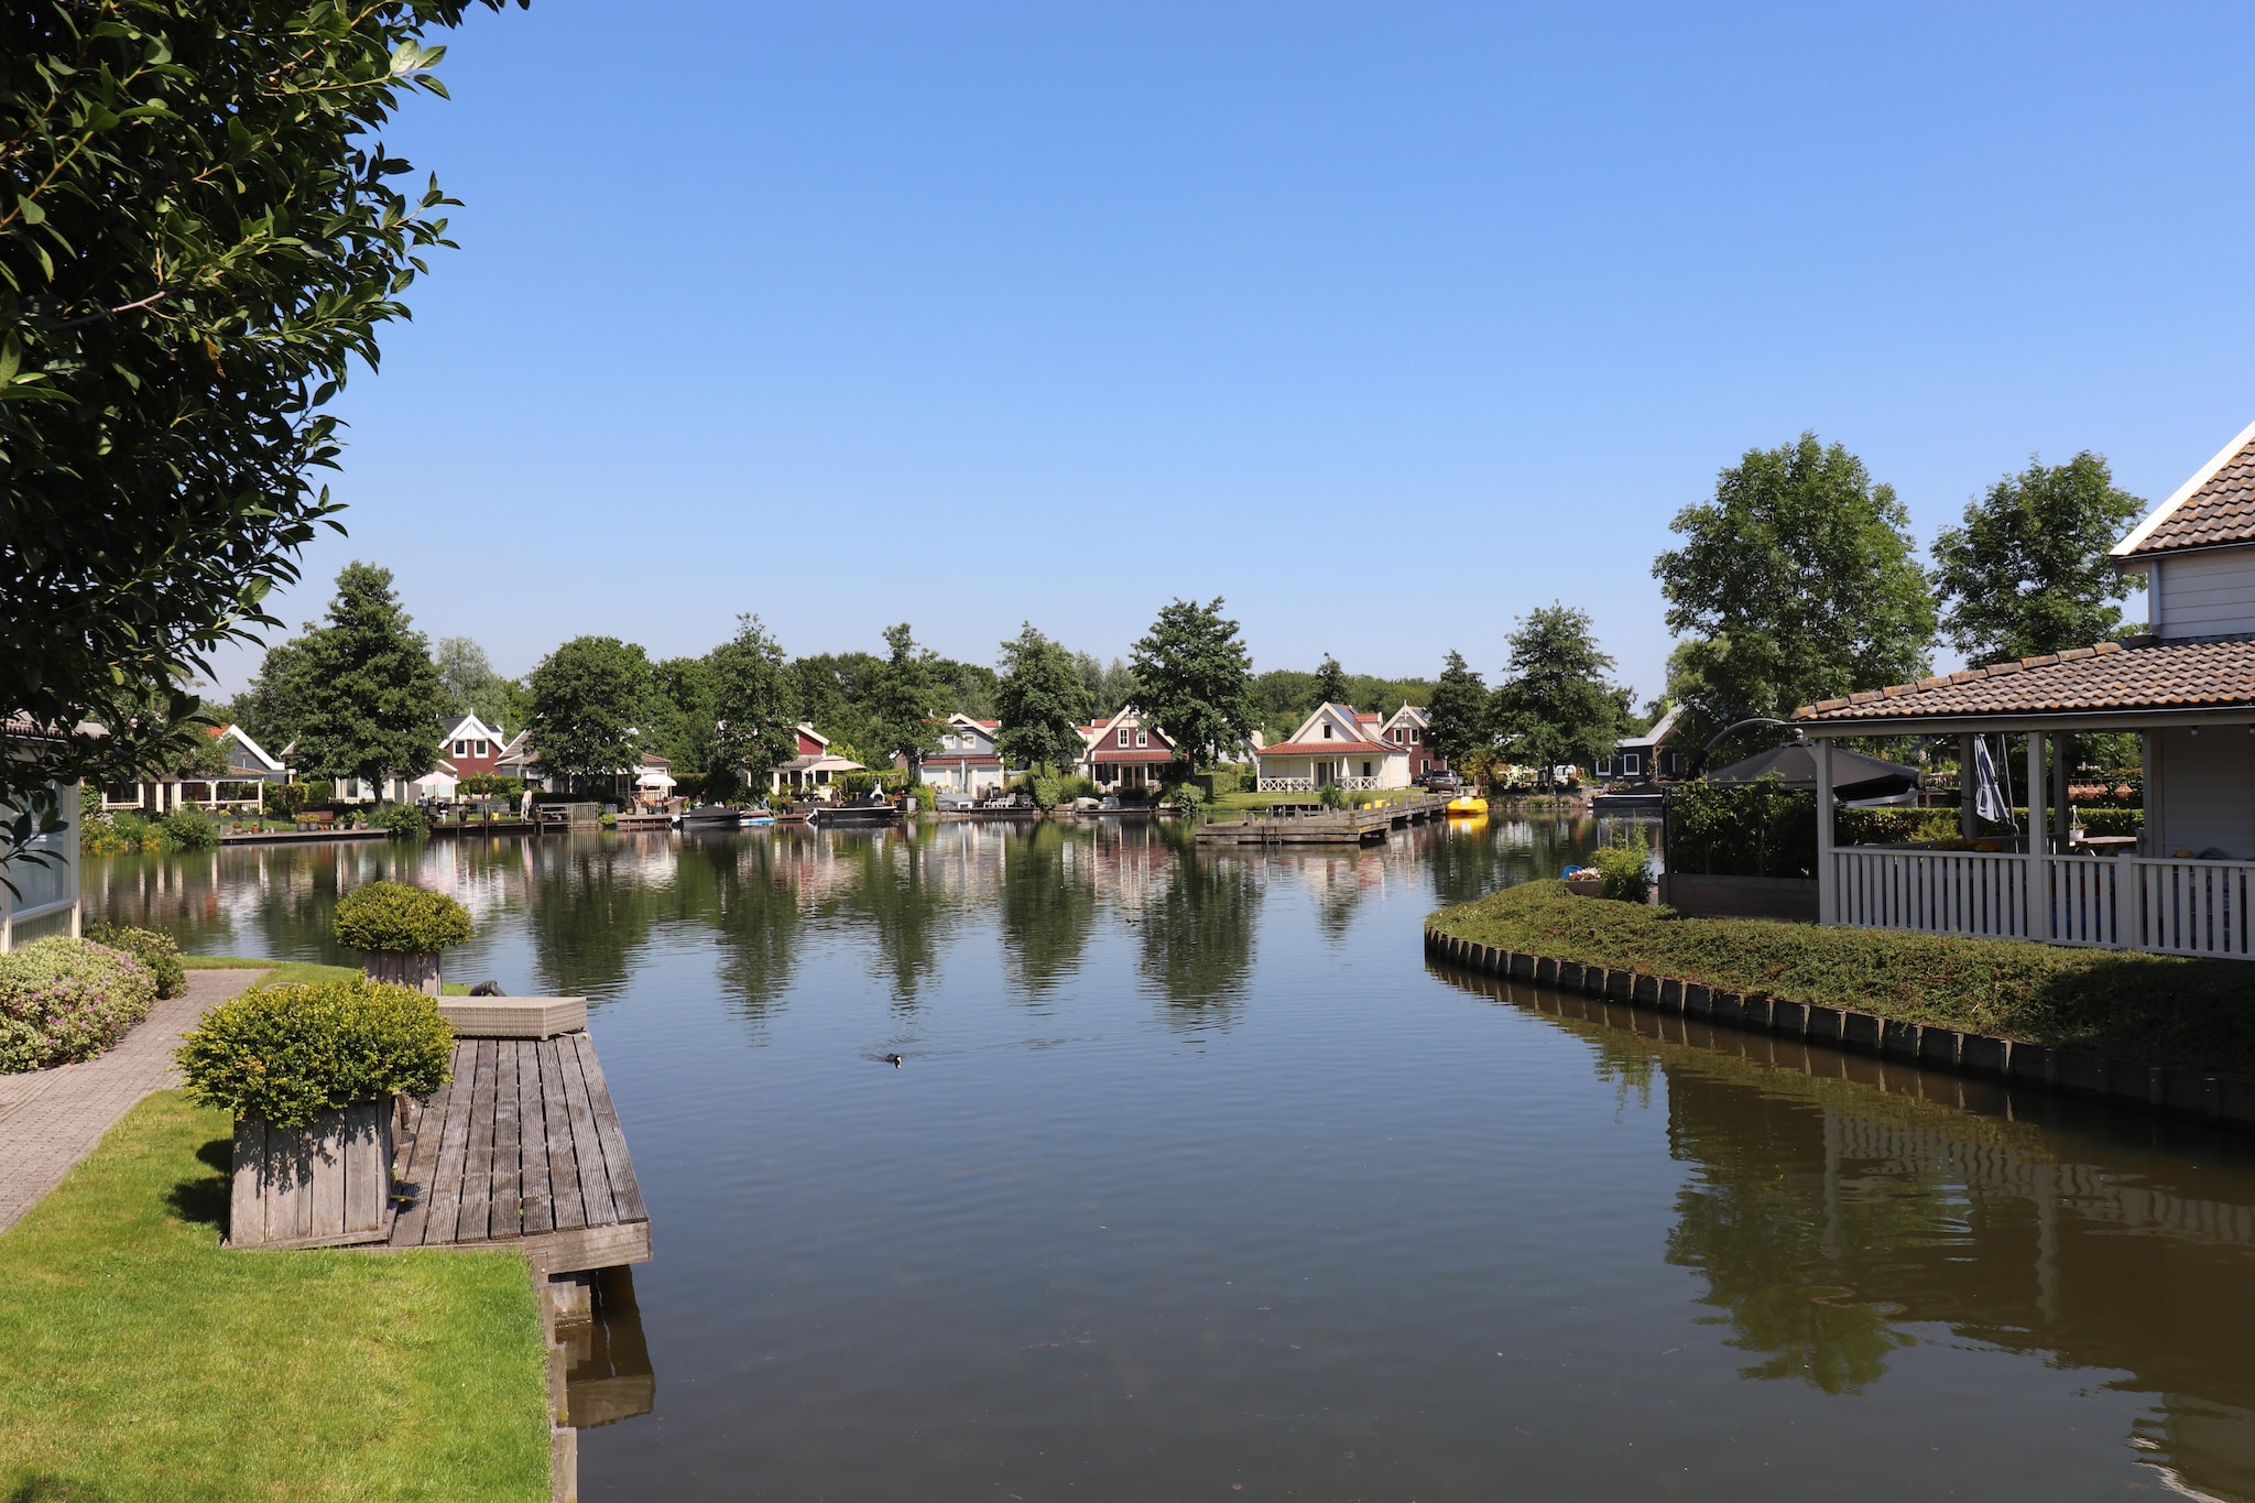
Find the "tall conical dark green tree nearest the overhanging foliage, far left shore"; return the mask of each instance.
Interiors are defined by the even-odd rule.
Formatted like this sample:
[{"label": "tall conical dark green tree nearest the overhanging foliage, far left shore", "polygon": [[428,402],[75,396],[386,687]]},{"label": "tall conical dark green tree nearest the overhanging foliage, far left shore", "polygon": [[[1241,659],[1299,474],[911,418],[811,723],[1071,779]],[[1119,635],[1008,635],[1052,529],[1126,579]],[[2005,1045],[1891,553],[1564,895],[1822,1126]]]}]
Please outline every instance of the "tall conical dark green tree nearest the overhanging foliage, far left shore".
[{"label": "tall conical dark green tree nearest the overhanging foliage, far left shore", "polygon": [[[392,593],[392,570],[347,563],[325,626],[300,644],[298,766],[313,777],[419,777],[437,764],[440,692],[431,642]],[[271,748],[268,748],[271,750]]]}]

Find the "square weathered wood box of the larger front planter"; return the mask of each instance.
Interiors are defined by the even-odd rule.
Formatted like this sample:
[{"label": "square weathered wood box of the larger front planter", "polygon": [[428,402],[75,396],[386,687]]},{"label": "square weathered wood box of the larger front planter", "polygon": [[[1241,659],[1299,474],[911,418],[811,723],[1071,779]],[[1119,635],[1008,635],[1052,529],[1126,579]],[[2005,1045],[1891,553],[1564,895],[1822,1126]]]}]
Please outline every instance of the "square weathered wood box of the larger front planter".
[{"label": "square weathered wood box of the larger front planter", "polygon": [[228,1246],[316,1248],[390,1233],[392,1102],[354,1102],[311,1127],[235,1120]]}]

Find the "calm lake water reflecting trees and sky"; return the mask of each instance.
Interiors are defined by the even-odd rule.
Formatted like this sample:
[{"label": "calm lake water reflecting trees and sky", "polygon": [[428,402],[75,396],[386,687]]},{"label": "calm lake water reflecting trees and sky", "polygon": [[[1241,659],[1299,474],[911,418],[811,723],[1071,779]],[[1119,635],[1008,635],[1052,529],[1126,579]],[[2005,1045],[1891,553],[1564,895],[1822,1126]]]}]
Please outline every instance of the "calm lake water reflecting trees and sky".
[{"label": "calm lake water reflecting trees and sky", "polygon": [[[92,863],[201,953],[462,897],[584,991],[656,1262],[618,1498],[2255,1501],[2255,1151],[1427,969],[1590,831]],[[884,1055],[904,1057],[902,1068]],[[638,1404],[627,1404],[636,1408]]]}]

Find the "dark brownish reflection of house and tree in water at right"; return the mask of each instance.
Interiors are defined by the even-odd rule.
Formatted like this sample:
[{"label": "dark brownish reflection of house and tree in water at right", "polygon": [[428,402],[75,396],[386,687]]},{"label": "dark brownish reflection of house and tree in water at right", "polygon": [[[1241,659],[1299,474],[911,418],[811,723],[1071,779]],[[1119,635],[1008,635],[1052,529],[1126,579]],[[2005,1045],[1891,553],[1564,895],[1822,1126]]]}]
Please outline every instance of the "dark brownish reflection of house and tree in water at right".
[{"label": "dark brownish reflection of house and tree in water at right", "polygon": [[1436,973],[1572,1028],[1603,1075],[1664,1082],[1691,1165],[1666,1257],[1705,1282],[1743,1377],[1856,1393],[1942,1325],[2149,1395],[2145,1462],[2255,1501],[2244,1136]]}]

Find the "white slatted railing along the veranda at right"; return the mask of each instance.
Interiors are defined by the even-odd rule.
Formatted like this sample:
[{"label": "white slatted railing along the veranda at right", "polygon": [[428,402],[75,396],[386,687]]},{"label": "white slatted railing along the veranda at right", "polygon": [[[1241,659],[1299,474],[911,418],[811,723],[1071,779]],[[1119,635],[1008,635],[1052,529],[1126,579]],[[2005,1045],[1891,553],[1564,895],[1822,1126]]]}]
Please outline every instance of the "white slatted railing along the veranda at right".
[{"label": "white slatted railing along the veranda at right", "polygon": [[2255,861],[1849,845],[1833,852],[1829,877],[1827,913],[1849,928],[2255,960]]}]

